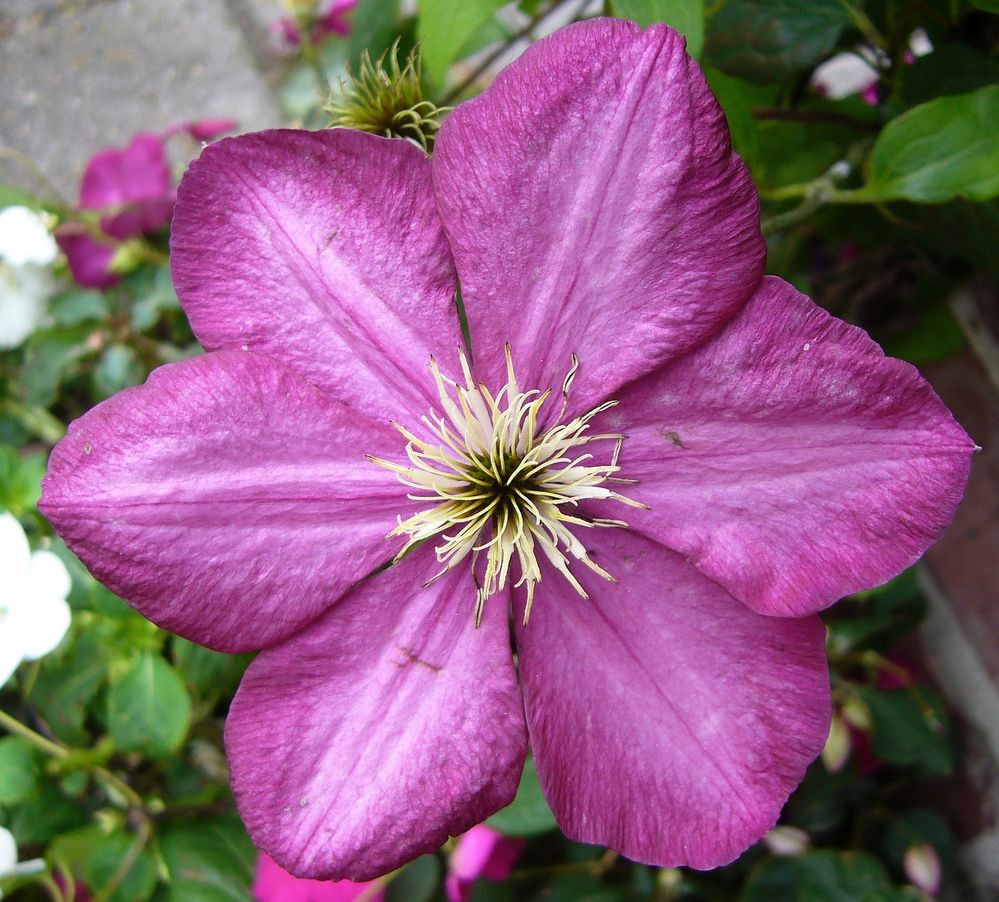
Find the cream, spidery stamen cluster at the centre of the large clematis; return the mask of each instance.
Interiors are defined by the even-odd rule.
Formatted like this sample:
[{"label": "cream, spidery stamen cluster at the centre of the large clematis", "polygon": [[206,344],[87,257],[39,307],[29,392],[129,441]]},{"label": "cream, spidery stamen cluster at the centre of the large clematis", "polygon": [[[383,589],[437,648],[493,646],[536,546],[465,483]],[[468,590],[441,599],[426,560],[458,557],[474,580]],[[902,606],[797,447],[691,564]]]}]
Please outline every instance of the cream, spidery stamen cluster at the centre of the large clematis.
[{"label": "cream, spidery stamen cluster at the centre of the large clematis", "polygon": [[[399,560],[416,545],[440,537],[435,548],[441,571],[430,580],[471,556],[472,573],[476,560],[486,555],[485,573],[476,593],[475,621],[482,619],[487,598],[501,592],[516,559],[519,579],[514,586],[526,585],[526,624],[541,582],[538,554],[558,570],[583,597],[586,591],[573,575],[570,565],[581,562],[615,582],[606,570],[590,559],[576,532],[594,526],[625,527],[622,520],[587,518],[579,502],[613,498],[633,507],[646,505],[611,491],[606,483],[631,482],[614,474],[625,436],[591,433],[590,421],[616,401],[605,401],[581,416],[563,422],[569,389],[578,368],[575,356],[562,384],[562,408],[554,422],[542,428],[542,408],[551,390],[521,391],[514,374],[510,347],[506,347],[507,382],[495,395],[476,384],[465,355],[461,366],[465,384],[442,376],[431,358],[440,396],[442,414],[431,411],[422,418],[429,430],[420,438],[398,423],[392,425],[407,440],[410,466],[380,458],[369,459],[392,470],[400,482],[418,493],[408,497],[432,504],[399,525],[389,537],[406,535],[409,541],[396,556]],[[584,445],[613,442],[609,461],[596,463]],[[429,585],[430,583],[427,583]]]}]

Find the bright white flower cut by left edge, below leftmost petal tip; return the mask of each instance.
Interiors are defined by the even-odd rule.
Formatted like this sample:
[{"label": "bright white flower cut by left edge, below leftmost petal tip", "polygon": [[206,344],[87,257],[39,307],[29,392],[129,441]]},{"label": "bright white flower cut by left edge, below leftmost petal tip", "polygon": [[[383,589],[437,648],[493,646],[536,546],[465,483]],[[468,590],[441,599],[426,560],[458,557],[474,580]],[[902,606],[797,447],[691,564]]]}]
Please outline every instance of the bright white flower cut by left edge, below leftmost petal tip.
[{"label": "bright white flower cut by left edge, below leftmost petal tip", "polygon": [[21,524],[0,514],[0,686],[21,661],[54,649],[69,629],[66,565],[51,551],[32,553]]}]

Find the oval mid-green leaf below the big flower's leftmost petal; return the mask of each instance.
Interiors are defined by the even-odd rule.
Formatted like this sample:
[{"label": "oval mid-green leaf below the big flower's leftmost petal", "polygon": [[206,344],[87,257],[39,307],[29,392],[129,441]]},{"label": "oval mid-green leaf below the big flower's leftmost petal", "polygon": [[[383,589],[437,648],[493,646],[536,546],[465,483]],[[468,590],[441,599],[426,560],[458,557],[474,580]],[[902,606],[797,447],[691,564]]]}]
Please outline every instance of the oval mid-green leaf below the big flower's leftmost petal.
[{"label": "oval mid-green leaf below the big flower's leftmost petal", "polygon": [[122,751],[161,756],[184,740],[191,701],[176,671],[159,655],[140,655],[108,692],[108,727]]}]

